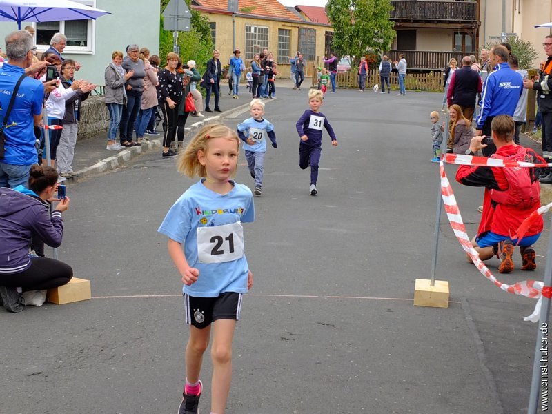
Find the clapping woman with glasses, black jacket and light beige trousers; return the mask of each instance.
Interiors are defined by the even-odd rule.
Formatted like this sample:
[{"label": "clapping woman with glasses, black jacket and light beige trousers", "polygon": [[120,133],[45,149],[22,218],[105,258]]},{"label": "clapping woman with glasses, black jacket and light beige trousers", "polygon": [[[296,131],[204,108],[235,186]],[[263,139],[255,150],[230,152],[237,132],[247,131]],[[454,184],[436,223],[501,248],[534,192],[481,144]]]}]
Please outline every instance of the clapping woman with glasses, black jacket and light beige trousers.
[{"label": "clapping woman with glasses, black jacket and light beige trousers", "polygon": [[[66,59],[61,63],[61,84],[64,88],[71,88],[74,81],[75,61]],[[88,98],[90,91],[96,86],[88,81],[83,81],[75,95],[66,100],[65,115],[63,116],[63,130],[57,148],[57,172],[64,178],[77,177],[73,172],[72,162],[75,157],[75,145],[77,144],[77,131],[81,119],[81,103]]]}]

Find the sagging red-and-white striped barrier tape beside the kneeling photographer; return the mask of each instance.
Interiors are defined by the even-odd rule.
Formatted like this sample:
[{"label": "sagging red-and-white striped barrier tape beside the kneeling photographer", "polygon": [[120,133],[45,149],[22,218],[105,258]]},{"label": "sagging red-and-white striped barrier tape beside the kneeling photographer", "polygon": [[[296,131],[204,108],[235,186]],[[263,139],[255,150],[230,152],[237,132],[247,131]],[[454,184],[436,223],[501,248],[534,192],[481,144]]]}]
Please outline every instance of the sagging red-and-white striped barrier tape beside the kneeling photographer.
[{"label": "sagging red-and-white striped barrier tape beside the kneeling photographer", "polygon": [[[456,156],[456,159],[460,159],[460,157],[464,157],[464,156]],[[466,156],[466,157],[484,158],[484,157],[471,157],[471,156]],[[485,159],[488,161],[491,161],[491,160],[502,161],[498,159],[496,160],[488,159],[488,158],[485,158]],[[455,163],[455,164],[459,164],[459,163]],[[477,164],[467,164],[467,165],[477,165]],[[489,164],[484,164],[484,165],[489,165]],[[525,321],[538,322],[540,317],[540,302],[542,300],[542,295],[546,297],[551,297],[552,287],[544,286],[542,282],[535,281],[535,280],[524,280],[522,282],[517,282],[513,285],[509,285],[509,284],[502,283],[496,279],[493,273],[491,273],[491,270],[489,270],[489,268],[487,268],[487,266],[485,266],[485,264],[479,258],[479,253],[477,253],[475,248],[473,248],[473,246],[471,245],[471,241],[468,237],[468,233],[466,233],[466,227],[464,226],[464,221],[462,221],[462,215],[460,215],[460,208],[458,208],[458,205],[456,203],[456,198],[454,197],[453,188],[451,187],[449,179],[446,177],[446,172],[444,171],[443,159],[441,159],[439,163],[439,171],[441,175],[441,195],[444,203],[444,208],[445,208],[447,217],[449,217],[451,228],[453,229],[453,232],[456,238],[458,239],[458,242],[460,242],[460,245],[462,246],[464,251],[469,255],[473,264],[475,264],[475,267],[477,267],[477,270],[479,270],[480,273],[484,275],[484,277],[486,277],[491,282],[493,282],[493,284],[495,284],[502,290],[509,293],[514,293],[515,295],[522,295],[526,297],[532,297],[535,299],[538,298],[539,300],[535,306],[535,310],[533,311],[533,313],[527,317],[524,317]],[[533,214],[542,215],[548,212],[551,207],[552,207],[552,203],[546,206],[542,206],[538,210],[535,210]],[[529,218],[527,220],[529,220]],[[523,225],[524,224],[522,224],[522,226]],[[522,226],[520,226],[520,228]]]}]

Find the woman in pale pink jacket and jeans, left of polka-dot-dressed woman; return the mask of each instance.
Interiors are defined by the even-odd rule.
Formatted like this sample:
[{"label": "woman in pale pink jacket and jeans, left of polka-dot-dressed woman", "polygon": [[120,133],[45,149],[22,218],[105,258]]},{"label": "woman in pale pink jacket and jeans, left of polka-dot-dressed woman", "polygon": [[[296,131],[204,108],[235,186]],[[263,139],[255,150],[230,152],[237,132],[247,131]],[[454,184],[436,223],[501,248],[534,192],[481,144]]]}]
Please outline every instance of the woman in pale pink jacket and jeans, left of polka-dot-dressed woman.
[{"label": "woman in pale pink jacket and jeans, left of polka-dot-dressed woman", "polygon": [[150,50],[148,48],[141,48],[139,58],[144,62],[144,72],[146,72],[146,76],[144,77],[144,92],[142,92],[140,110],[138,111],[138,117],[135,124],[136,138],[140,144],[147,141],[147,139],[144,138],[146,128],[148,128],[148,124],[150,123],[151,113],[157,108],[158,104],[156,87],[159,85],[159,79],[157,79],[155,68],[151,66],[149,57]]}]

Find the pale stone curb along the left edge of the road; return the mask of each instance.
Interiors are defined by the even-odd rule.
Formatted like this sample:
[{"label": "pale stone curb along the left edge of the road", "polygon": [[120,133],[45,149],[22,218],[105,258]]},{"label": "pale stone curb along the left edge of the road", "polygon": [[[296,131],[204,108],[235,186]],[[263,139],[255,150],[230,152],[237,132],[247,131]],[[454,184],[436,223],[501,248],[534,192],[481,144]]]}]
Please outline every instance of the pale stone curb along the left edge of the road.
[{"label": "pale stone curb along the left edge of the road", "polygon": [[[200,121],[194,122],[189,127],[186,127],[186,130],[185,130],[186,134],[190,134],[190,132],[194,132],[195,130],[198,130],[208,122],[213,122],[219,119],[224,119],[224,117],[229,117],[235,114],[236,112],[240,112],[248,108],[248,106],[249,106],[249,103],[244,103],[244,105],[237,106],[236,108],[232,108],[227,111],[224,111],[221,115],[199,118],[201,119]],[[120,150],[119,152],[117,152],[116,155],[112,155],[111,157],[102,159],[101,161],[97,162],[93,166],[75,171],[78,174],[78,177],[76,177],[76,179],[79,180],[83,178],[90,178],[95,175],[102,174],[103,172],[115,170],[119,167],[124,166],[128,161],[130,161],[131,159],[134,159],[135,157],[138,157],[139,155],[146,154],[146,152],[159,150],[159,148],[161,148],[161,144],[162,144],[161,138],[150,139],[149,141],[142,143],[141,146],[133,146],[133,147],[127,148],[126,150]]]}]

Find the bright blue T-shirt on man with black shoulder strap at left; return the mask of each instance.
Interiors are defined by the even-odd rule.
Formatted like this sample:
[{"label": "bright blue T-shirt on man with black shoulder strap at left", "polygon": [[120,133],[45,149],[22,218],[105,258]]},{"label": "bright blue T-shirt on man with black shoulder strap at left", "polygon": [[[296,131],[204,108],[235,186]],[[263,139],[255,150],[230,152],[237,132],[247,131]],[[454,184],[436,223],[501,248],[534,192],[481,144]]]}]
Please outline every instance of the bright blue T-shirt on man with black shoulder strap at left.
[{"label": "bright blue T-shirt on man with black shoulder strap at left", "polygon": [[[4,63],[0,68],[0,122],[8,110],[15,83],[25,73],[23,68]],[[1,162],[15,166],[36,164],[38,162],[37,149],[34,148],[34,119],[32,115],[42,113],[44,87],[41,81],[26,77],[21,81],[17,90],[17,97],[13,103],[7,127],[4,128],[6,137],[6,154]]]}]

